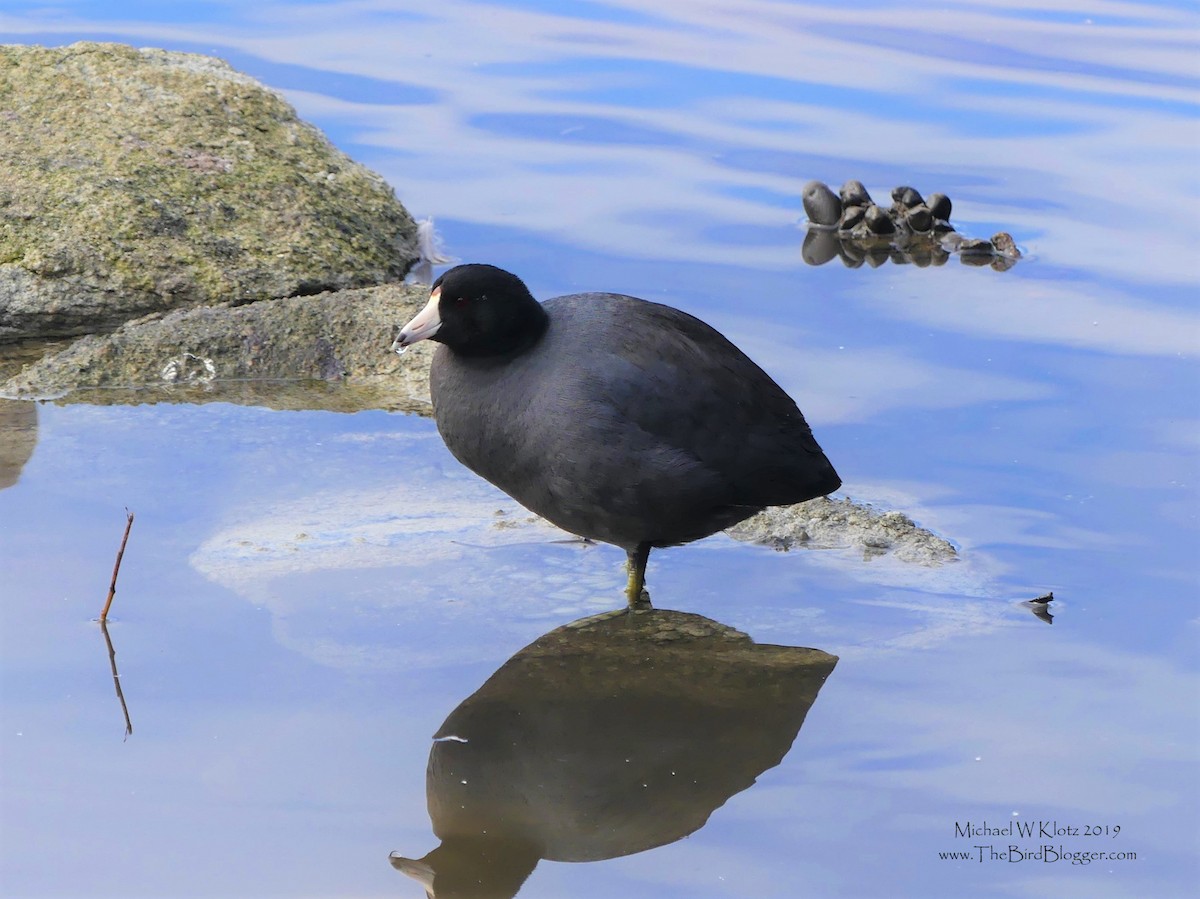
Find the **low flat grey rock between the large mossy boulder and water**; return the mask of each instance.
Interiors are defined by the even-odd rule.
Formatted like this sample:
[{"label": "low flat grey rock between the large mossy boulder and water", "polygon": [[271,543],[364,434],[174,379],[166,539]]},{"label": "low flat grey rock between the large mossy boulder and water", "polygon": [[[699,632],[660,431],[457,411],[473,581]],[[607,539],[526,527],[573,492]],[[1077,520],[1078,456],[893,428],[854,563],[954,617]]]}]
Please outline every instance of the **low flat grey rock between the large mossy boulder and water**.
[{"label": "low flat grey rock between the large mossy boulder and water", "polygon": [[[425,288],[388,284],[176,310],[83,337],[0,384],[0,395],[73,391],[73,402],[222,401],[346,410],[427,407],[432,350],[413,347],[403,360],[388,352],[396,323],[408,320],[427,298]],[[281,388],[278,379],[293,389]],[[287,395],[305,382],[307,400],[288,403]],[[329,389],[342,382],[352,389]],[[113,388],[152,390],[131,395]]]}]

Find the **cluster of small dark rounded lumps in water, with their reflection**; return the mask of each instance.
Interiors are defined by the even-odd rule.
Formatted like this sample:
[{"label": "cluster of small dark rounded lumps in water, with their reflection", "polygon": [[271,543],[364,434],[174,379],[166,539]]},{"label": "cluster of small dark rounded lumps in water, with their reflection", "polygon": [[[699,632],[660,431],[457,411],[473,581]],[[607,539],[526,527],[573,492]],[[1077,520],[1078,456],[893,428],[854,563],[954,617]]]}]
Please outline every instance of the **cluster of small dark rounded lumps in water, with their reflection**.
[{"label": "cluster of small dark rounded lumps in water, with their reflection", "polygon": [[931,193],[926,200],[914,187],[895,187],[892,205],[880,206],[862,181],[846,181],[839,193],[821,181],[809,181],[802,196],[809,217],[802,256],[809,265],[824,265],[840,256],[851,269],[864,262],[877,268],[888,259],[925,268],[959,253],[967,265],[1007,271],[1021,256],[1006,232],[991,240],[964,240],[949,222],[952,204],[944,193]]}]

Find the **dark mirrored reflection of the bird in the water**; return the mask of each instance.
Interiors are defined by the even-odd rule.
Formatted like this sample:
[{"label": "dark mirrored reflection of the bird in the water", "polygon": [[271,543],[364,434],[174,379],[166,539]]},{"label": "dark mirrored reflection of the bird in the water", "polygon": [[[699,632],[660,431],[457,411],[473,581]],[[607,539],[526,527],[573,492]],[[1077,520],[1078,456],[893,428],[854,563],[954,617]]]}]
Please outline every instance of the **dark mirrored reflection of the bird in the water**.
[{"label": "dark mirrored reflection of the bird in the water", "polygon": [[620,611],[529,645],[456,708],[426,774],[431,895],[514,897],[542,858],[686,837],[778,765],[836,658],[708,618]]}]

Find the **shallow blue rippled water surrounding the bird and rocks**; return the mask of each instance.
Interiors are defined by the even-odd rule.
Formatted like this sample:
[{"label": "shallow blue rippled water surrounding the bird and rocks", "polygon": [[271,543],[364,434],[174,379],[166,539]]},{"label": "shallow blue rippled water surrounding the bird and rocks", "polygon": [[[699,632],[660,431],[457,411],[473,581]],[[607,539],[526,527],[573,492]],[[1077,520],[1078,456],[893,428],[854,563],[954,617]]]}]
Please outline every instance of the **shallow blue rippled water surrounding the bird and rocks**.
[{"label": "shallow blue rippled water surrounding the bird and rocks", "polygon": [[[224,56],[436,216],[455,256],[540,296],[702,316],[797,397],[845,493],[960,547],[938,569],[720,535],[655,553],[658,606],[838,665],[791,750],[748,763],[756,783],[700,829],[541,861],[522,897],[1187,893],[1196,24],[1166,2],[0,12],[8,41]],[[808,266],[814,178],[942,191],[960,232],[1008,230],[1025,258]],[[0,892],[421,895],[388,856],[439,844],[431,737],[522,647],[619,605],[622,553],[526,523],[427,419],[146,398],[0,408]],[[109,636],[127,738],[92,621],[126,508]],[[1049,591],[1048,627],[1021,600]],[[540,685],[542,709],[596,689]],[[750,726],[714,717],[712,737]],[[613,763],[578,743],[577,769]],[[586,832],[546,747],[520,760],[526,780],[499,768],[514,789],[557,784],[558,827]],[[594,855],[634,829],[614,796]],[[662,833],[690,820],[688,791],[648,797]],[[1093,851],[1126,857],[1075,863]]]}]

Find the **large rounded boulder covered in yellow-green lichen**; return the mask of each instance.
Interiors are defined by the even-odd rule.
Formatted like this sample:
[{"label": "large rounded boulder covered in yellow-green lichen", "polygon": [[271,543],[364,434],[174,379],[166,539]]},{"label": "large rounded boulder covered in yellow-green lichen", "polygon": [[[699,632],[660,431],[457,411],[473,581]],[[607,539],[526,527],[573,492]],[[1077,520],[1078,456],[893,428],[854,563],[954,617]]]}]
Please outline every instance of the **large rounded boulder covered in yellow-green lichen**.
[{"label": "large rounded boulder covered in yellow-green lichen", "polygon": [[221,60],[0,46],[0,341],[403,277],[384,180]]}]

